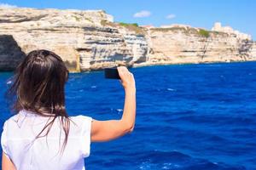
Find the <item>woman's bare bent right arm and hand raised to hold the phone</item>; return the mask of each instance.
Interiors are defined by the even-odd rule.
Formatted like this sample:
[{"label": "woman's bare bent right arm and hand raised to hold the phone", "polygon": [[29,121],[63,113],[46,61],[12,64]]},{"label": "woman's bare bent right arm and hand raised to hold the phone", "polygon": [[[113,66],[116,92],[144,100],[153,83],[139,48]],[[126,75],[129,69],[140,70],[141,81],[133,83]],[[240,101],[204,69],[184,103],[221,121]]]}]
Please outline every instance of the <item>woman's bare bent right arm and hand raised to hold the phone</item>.
[{"label": "woman's bare bent right arm and hand raised to hold the phone", "polygon": [[97,121],[91,125],[91,141],[103,142],[116,139],[125,133],[131,133],[136,117],[136,86],[135,80],[125,66],[119,66],[120,82],[125,88],[125,105],[123,116],[120,120]]}]

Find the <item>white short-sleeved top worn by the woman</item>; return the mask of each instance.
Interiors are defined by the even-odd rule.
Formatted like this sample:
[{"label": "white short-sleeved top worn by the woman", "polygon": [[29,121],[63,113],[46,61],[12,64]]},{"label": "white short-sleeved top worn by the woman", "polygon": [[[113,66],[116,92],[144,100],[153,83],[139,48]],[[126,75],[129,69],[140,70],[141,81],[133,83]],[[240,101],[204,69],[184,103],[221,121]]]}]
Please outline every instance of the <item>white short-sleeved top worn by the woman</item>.
[{"label": "white short-sleeved top worn by the woman", "polygon": [[92,118],[70,116],[70,119],[67,145],[61,155],[65,134],[59,118],[55,119],[47,137],[35,139],[49,117],[22,110],[4,122],[1,136],[3,152],[14,162],[17,170],[85,170],[84,157],[90,155]]}]

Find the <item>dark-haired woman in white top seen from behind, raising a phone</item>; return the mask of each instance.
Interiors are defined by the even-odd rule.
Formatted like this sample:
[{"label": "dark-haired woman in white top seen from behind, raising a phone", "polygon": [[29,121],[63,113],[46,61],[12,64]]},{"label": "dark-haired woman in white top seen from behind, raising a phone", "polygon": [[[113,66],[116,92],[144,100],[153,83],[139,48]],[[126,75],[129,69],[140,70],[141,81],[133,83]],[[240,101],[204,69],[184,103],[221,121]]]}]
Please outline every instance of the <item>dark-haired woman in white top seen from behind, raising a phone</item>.
[{"label": "dark-haired woman in white top seen from behind, raising a phone", "polygon": [[16,114],[3,125],[2,169],[82,170],[84,157],[90,155],[90,142],[130,133],[136,117],[136,85],[125,66],[119,66],[118,71],[125,89],[120,120],[68,116],[64,94],[68,71],[61,57],[48,50],[27,54],[7,93],[15,96]]}]

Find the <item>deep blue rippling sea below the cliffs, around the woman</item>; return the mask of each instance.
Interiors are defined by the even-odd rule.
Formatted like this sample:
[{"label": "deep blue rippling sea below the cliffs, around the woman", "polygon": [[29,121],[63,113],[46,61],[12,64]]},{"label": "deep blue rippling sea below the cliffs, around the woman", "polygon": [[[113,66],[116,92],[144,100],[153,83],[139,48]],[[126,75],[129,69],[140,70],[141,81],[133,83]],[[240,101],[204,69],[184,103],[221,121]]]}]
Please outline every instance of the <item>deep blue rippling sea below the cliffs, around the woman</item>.
[{"label": "deep blue rippling sea below the cliffs, around the woman", "polygon": [[[131,68],[137,85],[133,133],[91,144],[89,170],[256,169],[256,62]],[[0,126],[11,72],[0,73]],[[124,89],[103,71],[70,74],[71,116],[119,119]]]}]

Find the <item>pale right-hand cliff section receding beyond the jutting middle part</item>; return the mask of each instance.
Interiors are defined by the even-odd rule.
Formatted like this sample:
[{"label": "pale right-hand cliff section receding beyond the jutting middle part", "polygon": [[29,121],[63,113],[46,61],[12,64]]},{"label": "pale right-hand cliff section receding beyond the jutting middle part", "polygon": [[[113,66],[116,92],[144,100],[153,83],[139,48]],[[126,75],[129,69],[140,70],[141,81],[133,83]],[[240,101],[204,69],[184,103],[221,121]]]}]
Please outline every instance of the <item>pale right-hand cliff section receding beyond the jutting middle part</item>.
[{"label": "pale right-hand cliff section receding beyond the jutting middle part", "polygon": [[238,38],[235,34],[176,26],[149,29],[148,39],[148,64],[151,65],[256,59],[253,42]]}]

